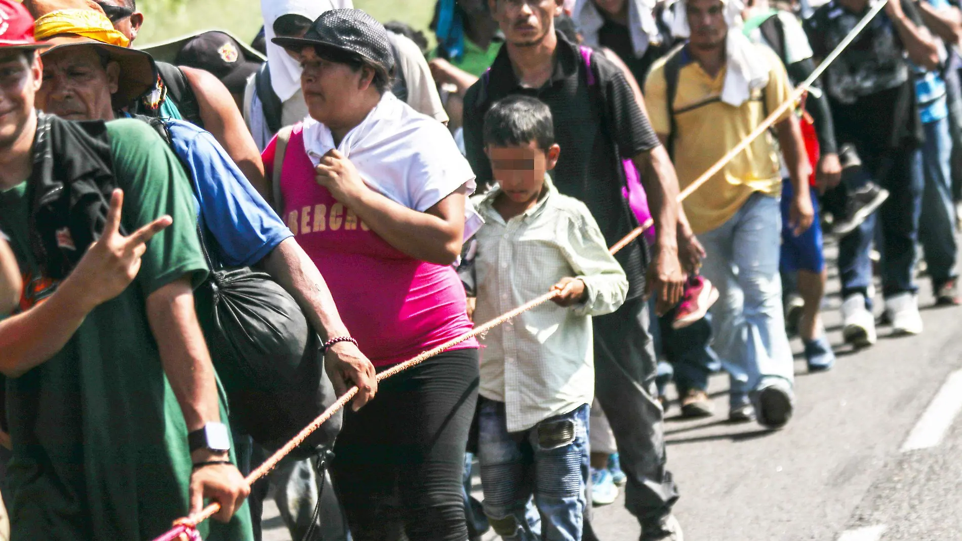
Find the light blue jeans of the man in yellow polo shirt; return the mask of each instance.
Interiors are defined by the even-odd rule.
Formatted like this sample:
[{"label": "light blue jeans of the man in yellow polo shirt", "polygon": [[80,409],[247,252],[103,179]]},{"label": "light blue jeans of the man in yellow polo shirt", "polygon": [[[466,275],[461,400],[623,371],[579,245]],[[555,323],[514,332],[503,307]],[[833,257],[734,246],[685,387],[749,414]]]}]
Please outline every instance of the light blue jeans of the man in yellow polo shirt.
[{"label": "light blue jeans of the man in yellow polo shirt", "polygon": [[778,199],[752,194],[735,216],[698,236],[707,257],[701,273],[721,296],[712,306],[715,351],[742,374],[731,374],[731,404],[769,385],[792,389],[792,349],[785,334]]}]

